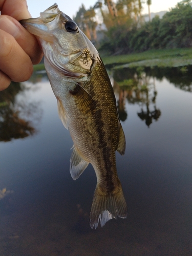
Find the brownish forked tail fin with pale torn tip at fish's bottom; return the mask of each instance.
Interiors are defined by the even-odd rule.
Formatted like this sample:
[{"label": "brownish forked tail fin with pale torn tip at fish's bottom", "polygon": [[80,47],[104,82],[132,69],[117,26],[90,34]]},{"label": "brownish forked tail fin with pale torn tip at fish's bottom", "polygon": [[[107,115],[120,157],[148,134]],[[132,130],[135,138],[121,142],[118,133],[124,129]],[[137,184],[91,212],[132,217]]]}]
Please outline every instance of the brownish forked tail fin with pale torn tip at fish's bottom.
[{"label": "brownish forked tail fin with pale torn tip at fish's bottom", "polygon": [[93,197],[93,203],[90,213],[90,226],[95,229],[99,220],[101,227],[112,218],[117,216],[125,219],[127,215],[127,207],[124,199],[121,184],[114,192],[103,193],[97,186]]}]

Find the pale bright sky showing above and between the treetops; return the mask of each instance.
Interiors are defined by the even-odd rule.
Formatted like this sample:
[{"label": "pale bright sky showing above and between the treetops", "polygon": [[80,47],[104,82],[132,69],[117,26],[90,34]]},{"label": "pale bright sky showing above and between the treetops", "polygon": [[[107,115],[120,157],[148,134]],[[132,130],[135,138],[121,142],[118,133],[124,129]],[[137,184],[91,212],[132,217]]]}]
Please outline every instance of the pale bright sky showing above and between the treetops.
[{"label": "pale bright sky showing above and between the treetops", "polygon": [[[28,9],[32,17],[39,17],[39,13],[45,11],[47,8],[52,6],[56,1],[60,11],[64,12],[71,18],[76,16],[76,12],[79,10],[79,7],[83,4],[86,9],[89,9],[90,6],[94,6],[97,0],[27,0]],[[114,1],[115,2],[115,1]],[[146,1],[145,1],[146,2]],[[169,8],[175,7],[178,0],[152,0],[152,5],[150,7],[151,12],[159,11],[168,11]],[[146,4],[143,4],[143,14],[148,13],[148,7]]]}]

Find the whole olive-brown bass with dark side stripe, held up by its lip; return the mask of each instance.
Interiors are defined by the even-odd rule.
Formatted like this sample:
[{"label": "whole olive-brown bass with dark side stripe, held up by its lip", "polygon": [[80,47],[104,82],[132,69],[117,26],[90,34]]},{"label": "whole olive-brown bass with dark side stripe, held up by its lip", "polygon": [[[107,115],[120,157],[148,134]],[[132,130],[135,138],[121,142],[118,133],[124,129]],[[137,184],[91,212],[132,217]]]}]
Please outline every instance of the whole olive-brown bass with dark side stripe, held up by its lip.
[{"label": "whole olive-brown bass with dark side stripe, held up by its lip", "polygon": [[116,156],[125,153],[113,87],[99,53],[57,4],[38,18],[20,23],[37,36],[57,99],[58,114],[73,140],[70,173],[76,180],[92,164],[97,185],[90,211],[91,228],[126,218],[127,205],[117,175]]}]

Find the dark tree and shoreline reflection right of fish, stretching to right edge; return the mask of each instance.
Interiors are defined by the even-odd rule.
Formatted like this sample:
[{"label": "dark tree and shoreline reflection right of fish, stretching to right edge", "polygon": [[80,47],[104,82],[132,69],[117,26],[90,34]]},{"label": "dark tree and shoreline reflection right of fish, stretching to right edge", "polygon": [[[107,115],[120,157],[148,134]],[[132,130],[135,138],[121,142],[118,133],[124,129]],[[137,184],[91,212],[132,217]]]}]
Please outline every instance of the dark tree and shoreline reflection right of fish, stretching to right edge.
[{"label": "dark tree and shoreline reflection right of fish, stretching to right edge", "polygon": [[157,121],[161,111],[156,107],[155,79],[161,81],[163,78],[181,90],[192,92],[191,65],[175,68],[138,67],[114,70],[114,91],[119,95],[117,107],[120,120],[124,121],[127,118],[125,108],[127,99],[130,104],[140,105],[141,110],[137,115],[148,127],[153,119]]}]

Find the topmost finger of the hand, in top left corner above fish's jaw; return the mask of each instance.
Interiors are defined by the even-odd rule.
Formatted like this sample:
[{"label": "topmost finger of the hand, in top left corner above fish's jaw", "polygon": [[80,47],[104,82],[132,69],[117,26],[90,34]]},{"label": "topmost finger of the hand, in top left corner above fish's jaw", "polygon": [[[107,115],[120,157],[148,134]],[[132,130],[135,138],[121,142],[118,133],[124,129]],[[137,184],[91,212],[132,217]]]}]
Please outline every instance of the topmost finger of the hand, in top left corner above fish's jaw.
[{"label": "topmost finger of the hand, in top left corner above fish's jaw", "polygon": [[12,16],[17,20],[31,17],[26,0],[0,0],[0,11],[1,14]]}]

